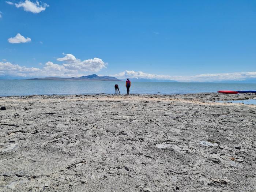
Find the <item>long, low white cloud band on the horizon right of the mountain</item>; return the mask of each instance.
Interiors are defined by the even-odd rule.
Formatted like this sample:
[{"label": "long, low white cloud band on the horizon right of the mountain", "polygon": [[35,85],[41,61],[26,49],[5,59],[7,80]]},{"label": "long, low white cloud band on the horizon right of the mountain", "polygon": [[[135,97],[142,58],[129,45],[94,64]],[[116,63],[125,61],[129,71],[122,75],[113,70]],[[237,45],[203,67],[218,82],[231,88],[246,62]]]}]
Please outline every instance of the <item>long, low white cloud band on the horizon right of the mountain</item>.
[{"label": "long, low white cloud band on the horizon right of the mountain", "polygon": [[256,72],[237,72],[237,73],[219,73],[219,74],[200,74],[192,76],[169,76],[147,74],[142,71],[124,71],[112,75],[119,79],[125,78],[143,78],[143,79],[161,79],[161,80],[176,80],[180,82],[215,82],[223,80],[245,80],[248,78],[256,78]]}]

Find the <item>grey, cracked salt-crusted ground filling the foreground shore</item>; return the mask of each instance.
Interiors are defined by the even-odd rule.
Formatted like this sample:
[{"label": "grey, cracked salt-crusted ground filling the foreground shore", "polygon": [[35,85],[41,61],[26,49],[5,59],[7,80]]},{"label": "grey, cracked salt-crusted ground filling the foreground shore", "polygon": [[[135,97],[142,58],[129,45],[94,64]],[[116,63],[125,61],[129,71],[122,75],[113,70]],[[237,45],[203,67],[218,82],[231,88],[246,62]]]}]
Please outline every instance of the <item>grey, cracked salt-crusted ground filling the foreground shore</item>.
[{"label": "grey, cracked salt-crusted ground filling the foreground shore", "polygon": [[246,98],[1,97],[0,191],[256,191]]}]

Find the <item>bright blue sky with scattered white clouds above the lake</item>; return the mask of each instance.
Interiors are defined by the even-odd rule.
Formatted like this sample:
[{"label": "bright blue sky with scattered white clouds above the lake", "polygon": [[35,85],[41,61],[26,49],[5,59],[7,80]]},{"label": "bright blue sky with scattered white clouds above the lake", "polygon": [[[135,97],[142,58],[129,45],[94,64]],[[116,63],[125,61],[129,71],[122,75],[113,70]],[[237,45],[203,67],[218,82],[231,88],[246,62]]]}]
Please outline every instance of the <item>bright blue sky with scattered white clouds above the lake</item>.
[{"label": "bright blue sky with scattered white clouds above the lake", "polygon": [[0,11],[0,76],[256,78],[255,0],[1,0]]}]

